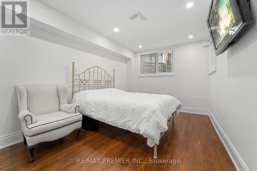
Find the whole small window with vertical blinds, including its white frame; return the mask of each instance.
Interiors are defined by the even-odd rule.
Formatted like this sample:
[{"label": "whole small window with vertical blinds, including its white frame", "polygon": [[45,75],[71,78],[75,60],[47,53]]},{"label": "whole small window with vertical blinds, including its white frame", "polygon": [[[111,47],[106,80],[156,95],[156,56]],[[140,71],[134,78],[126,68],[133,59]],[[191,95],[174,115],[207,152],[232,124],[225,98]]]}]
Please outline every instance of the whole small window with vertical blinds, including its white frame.
[{"label": "whole small window with vertical blinds, including its white frame", "polygon": [[174,75],[173,48],[141,53],[139,76],[161,75]]}]

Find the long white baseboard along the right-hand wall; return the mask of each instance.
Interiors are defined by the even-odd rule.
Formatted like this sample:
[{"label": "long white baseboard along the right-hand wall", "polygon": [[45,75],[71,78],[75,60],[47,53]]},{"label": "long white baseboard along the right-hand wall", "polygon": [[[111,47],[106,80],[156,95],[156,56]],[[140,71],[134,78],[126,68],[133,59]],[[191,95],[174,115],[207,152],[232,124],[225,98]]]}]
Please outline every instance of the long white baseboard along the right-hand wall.
[{"label": "long white baseboard along the right-hand wall", "polygon": [[248,171],[249,168],[247,167],[246,163],[243,161],[242,157],[238,154],[237,150],[232,145],[231,141],[229,140],[229,138],[227,137],[227,135],[225,134],[225,132],[223,131],[221,126],[219,126],[218,122],[216,121],[216,119],[213,116],[211,111],[209,111],[209,118],[219,136],[219,139],[221,139],[222,143],[224,144],[225,148],[227,149],[228,154],[229,154],[232,162],[235,165],[235,168],[237,170]]}]

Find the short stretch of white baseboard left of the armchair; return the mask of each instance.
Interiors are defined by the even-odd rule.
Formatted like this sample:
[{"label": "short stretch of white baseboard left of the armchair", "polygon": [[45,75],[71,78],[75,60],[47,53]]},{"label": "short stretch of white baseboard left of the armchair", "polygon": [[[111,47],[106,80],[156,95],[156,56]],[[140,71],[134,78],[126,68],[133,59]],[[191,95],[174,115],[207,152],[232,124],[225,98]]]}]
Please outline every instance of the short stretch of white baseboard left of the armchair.
[{"label": "short stretch of white baseboard left of the armchair", "polygon": [[22,131],[0,137],[0,149],[23,142]]}]

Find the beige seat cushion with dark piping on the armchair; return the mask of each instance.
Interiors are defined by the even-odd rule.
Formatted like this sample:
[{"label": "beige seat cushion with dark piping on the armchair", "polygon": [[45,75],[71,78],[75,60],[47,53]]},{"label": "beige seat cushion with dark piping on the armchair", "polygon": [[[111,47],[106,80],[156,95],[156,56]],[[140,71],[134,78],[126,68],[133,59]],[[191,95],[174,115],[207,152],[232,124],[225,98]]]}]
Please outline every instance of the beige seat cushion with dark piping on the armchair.
[{"label": "beige seat cushion with dark piping on the armchair", "polygon": [[35,116],[35,120],[36,122],[34,124],[27,125],[25,128],[26,136],[28,137],[81,121],[82,115],[80,113],[71,114],[57,111]]}]

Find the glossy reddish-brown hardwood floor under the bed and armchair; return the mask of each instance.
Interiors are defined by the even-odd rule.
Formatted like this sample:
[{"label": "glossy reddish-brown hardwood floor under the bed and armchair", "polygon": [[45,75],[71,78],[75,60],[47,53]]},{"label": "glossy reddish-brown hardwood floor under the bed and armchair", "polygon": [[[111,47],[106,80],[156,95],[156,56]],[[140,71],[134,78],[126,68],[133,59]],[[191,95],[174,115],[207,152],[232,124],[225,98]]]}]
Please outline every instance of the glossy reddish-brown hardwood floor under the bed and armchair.
[{"label": "glossy reddish-brown hardwood floor under the bed and armchair", "polygon": [[[100,123],[97,131],[76,131],[60,140],[35,148],[35,161],[28,163],[29,151],[19,143],[0,150],[0,170],[236,170],[208,116],[180,112],[158,145],[158,159],[179,163],[150,163],[153,148],[139,134]],[[78,163],[100,159],[100,163]],[[112,158],[130,163],[106,163]],[[132,163],[138,159],[143,163]],[[105,162],[104,162],[105,160]],[[155,160],[159,161],[159,160]],[[88,161],[90,162],[90,161]]]}]

